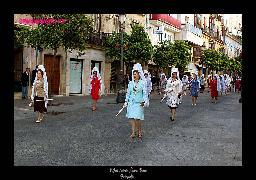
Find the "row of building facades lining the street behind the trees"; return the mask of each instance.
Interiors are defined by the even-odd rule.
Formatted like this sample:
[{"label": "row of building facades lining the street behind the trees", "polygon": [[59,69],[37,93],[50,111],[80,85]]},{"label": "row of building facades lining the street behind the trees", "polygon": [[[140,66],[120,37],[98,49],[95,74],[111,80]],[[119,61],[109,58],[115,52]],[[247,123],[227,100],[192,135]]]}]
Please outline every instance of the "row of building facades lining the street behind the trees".
[{"label": "row of building facades lining the street behind the trees", "polygon": [[[105,54],[105,48],[101,45],[106,41],[107,35],[112,31],[120,31],[118,15],[115,14],[93,14],[85,15],[94,19],[94,35],[88,33],[86,36],[87,50],[86,55],[76,57],[75,50],[72,53],[62,48],[58,48],[55,71],[52,77],[52,96],[71,96],[71,95],[89,95],[89,83],[91,71],[98,67],[103,80],[103,94],[117,91],[119,84],[120,60],[112,61]],[[20,22],[20,19],[30,19],[26,14],[14,15],[14,29],[19,25],[27,28],[36,28],[36,24]],[[236,20],[236,25],[234,25]],[[158,44],[161,40],[186,41],[192,46],[191,63],[189,70],[185,74],[195,73],[202,74],[202,53],[201,46],[204,44],[207,49],[214,49],[219,52],[228,53],[234,57],[241,53],[241,41],[235,38],[235,31],[241,27],[240,15],[228,16],[218,14],[127,14],[124,23],[124,31],[130,34],[131,26],[129,24],[139,24],[145,28],[152,45]],[[155,34],[154,27],[163,26],[163,33]],[[227,31],[229,26],[229,31]],[[237,26],[237,27],[236,27]],[[235,28],[236,27],[236,28]],[[226,33],[227,32],[227,33]],[[44,65],[46,74],[50,74],[51,62],[54,51],[52,49],[32,49],[23,47],[19,42],[14,40],[14,85],[15,98],[21,98],[21,74],[27,67],[31,71],[36,65]],[[139,60],[136,62],[140,63]],[[123,64],[124,74],[126,74],[125,63]],[[153,61],[148,64],[142,63],[143,70],[148,70],[150,75],[159,77],[165,73],[168,78],[171,76],[171,68],[159,69]],[[132,67],[128,68],[131,74]],[[215,74],[203,66],[204,76]],[[223,72],[219,72],[222,74]],[[31,73],[30,73],[31,75]],[[49,76],[49,75],[48,75]],[[31,79],[31,76],[29,77]],[[31,95],[31,88],[28,92],[28,98]]]}]

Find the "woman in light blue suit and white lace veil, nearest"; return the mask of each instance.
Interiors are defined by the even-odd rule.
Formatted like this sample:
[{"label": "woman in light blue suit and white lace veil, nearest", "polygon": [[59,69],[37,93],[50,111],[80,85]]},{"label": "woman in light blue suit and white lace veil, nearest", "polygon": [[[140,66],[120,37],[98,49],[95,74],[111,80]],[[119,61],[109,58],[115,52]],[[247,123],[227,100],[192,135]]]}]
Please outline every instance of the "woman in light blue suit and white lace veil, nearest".
[{"label": "woman in light blue suit and white lace veil, nearest", "polygon": [[133,67],[132,81],[128,83],[124,107],[127,106],[126,117],[131,118],[132,135],[135,137],[135,119],[137,121],[139,137],[141,133],[141,120],[144,120],[144,107],[149,106],[147,96],[147,82],[141,68],[141,64],[137,63]]}]

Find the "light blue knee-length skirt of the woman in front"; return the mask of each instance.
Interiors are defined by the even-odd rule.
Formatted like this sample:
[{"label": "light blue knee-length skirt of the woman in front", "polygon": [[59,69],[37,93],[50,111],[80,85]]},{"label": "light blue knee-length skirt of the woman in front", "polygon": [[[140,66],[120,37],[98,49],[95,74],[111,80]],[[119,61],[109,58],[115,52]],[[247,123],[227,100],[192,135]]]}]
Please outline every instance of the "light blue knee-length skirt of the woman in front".
[{"label": "light blue knee-length skirt of the woman in front", "polygon": [[129,101],[127,104],[127,118],[134,118],[134,119],[140,119],[144,120],[144,108],[143,106],[140,106],[140,103],[136,103],[133,99],[133,101]]}]

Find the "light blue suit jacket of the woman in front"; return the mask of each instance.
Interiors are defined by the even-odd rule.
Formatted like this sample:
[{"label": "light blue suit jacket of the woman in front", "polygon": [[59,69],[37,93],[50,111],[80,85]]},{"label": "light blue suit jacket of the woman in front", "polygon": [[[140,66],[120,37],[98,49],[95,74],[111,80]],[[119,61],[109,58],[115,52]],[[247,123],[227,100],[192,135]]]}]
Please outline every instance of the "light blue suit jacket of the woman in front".
[{"label": "light blue suit jacket of the woman in front", "polygon": [[147,102],[147,100],[146,100],[147,97],[144,96],[142,83],[140,81],[138,82],[138,86],[137,86],[136,91],[135,91],[136,94],[134,94],[134,91],[133,91],[134,81],[130,81],[128,83],[128,88],[127,88],[125,101],[127,101],[127,102],[130,101],[131,102],[134,99],[135,102],[137,102],[137,103]]}]

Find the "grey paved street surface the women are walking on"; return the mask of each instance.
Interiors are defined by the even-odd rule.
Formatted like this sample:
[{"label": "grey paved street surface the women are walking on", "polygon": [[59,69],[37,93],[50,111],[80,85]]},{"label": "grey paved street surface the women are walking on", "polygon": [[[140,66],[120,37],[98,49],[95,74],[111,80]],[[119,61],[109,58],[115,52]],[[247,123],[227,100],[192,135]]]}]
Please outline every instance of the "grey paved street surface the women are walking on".
[{"label": "grey paved street surface the women are walking on", "polygon": [[241,92],[218,97],[217,103],[207,92],[192,106],[187,91],[171,121],[166,101],[160,103],[154,91],[142,138],[130,138],[127,108],[116,116],[123,107],[116,103],[118,94],[102,95],[94,112],[91,96],[53,97],[55,106],[48,106],[50,114],[40,123],[30,100],[14,100],[14,165],[241,166]]}]

